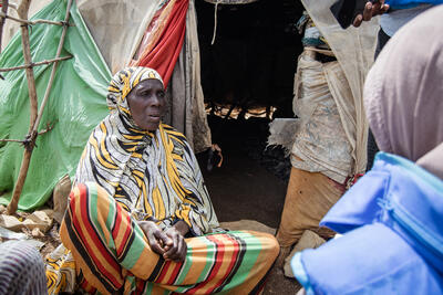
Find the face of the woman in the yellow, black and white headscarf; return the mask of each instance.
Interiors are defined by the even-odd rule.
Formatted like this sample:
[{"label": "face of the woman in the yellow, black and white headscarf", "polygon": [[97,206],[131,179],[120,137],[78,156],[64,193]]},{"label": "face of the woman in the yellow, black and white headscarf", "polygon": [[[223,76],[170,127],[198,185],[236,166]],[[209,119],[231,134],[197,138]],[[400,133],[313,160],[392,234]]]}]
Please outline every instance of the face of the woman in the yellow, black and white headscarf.
[{"label": "face of the woman in the yellow, black and white headscarf", "polygon": [[162,82],[144,80],[126,96],[132,118],[138,127],[155,131],[165,112],[165,89]]}]

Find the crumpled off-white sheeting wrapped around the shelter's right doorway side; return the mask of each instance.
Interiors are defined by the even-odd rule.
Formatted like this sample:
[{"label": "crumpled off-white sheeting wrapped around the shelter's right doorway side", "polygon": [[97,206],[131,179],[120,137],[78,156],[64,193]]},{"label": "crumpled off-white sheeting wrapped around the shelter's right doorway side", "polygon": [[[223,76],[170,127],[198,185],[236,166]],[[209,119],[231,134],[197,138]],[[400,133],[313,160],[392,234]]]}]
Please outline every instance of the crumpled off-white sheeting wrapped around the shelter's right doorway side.
[{"label": "crumpled off-white sheeting wrapped around the shelter's right doorway side", "polygon": [[[291,150],[295,168],[322,172],[343,183],[352,175],[351,145],[337,101],[352,104],[352,93],[338,62],[320,63],[305,51],[295,78],[293,114],[300,127]],[[356,112],[350,109],[349,118]]]}]

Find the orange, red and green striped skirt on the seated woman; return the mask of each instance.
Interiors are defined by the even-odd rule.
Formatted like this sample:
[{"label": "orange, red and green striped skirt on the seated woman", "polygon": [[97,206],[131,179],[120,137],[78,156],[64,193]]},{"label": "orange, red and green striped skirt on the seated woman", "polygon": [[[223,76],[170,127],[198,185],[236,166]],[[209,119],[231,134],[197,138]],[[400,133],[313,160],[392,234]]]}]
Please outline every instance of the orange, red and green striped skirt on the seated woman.
[{"label": "orange, red and green striped skirt on the seated woman", "polygon": [[185,261],[165,261],[130,214],[92,182],[72,191],[60,234],[89,293],[257,294],[279,252],[272,235],[236,231],[186,239]]}]

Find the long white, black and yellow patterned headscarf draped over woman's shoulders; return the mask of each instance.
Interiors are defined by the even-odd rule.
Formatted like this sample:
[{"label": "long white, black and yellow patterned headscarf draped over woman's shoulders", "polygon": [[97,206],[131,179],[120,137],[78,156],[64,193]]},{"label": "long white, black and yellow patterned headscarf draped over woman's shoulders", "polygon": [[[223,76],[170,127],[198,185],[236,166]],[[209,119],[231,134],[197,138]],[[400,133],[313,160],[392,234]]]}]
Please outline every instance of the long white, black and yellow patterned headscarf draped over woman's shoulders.
[{"label": "long white, black and yellow patterned headscarf draped over woman's shoulders", "polygon": [[74,182],[97,182],[137,220],[153,218],[164,228],[183,220],[196,235],[213,232],[217,218],[185,136],[162,123],[146,131],[133,122],[126,96],[147,78],[162,82],[147,67],[114,75],[111,114],[91,134]]}]

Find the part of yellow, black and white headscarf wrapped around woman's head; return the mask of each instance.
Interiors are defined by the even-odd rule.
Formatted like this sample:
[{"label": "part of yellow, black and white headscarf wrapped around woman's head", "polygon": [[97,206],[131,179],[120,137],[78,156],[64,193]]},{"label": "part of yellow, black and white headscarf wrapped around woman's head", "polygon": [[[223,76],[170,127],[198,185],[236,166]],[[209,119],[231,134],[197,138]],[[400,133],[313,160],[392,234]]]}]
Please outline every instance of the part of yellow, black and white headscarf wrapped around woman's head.
[{"label": "part of yellow, black and white headscarf wrapped around woman's head", "polygon": [[163,80],[159,74],[150,67],[125,67],[117,72],[110,83],[107,88],[107,107],[113,110],[117,109],[125,119],[134,126],[134,122],[131,115],[131,109],[127,104],[126,96],[130,92],[137,86],[142,81],[154,78],[158,80],[163,84]]}]

